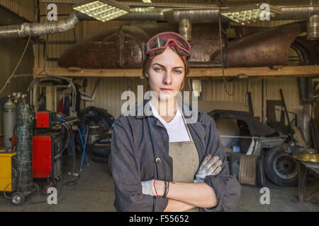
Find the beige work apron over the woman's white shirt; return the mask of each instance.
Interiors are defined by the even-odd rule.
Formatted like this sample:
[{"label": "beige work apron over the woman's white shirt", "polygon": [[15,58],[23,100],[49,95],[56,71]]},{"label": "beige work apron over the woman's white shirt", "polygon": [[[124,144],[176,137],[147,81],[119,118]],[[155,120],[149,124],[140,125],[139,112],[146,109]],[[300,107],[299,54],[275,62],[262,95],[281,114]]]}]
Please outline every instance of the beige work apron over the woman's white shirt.
[{"label": "beige work apron over the woman's white shirt", "polygon": [[[193,182],[199,167],[198,152],[185,123],[184,114],[181,114],[191,141],[169,143],[169,156],[173,159],[173,182]],[[187,212],[198,212],[193,208]]]}]

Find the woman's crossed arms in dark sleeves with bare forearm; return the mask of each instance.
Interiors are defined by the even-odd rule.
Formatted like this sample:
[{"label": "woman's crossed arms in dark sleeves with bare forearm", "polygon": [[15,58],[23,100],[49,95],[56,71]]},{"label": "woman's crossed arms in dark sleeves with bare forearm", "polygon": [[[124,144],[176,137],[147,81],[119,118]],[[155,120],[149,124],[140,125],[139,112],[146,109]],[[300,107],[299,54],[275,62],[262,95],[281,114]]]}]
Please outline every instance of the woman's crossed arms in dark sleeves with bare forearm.
[{"label": "woman's crossed arms in dark sleeves with bare forearm", "polygon": [[[124,122],[123,122],[124,121]],[[135,146],[131,130],[127,129],[128,119],[117,119],[113,129],[111,164],[115,186],[116,201],[114,206],[118,211],[185,211],[196,206],[206,208],[205,211],[230,211],[240,197],[240,184],[229,174],[226,155],[220,143],[215,124],[206,134],[206,149],[208,153],[220,156],[223,170],[220,176],[209,176],[207,181],[194,183],[170,183],[167,198],[157,197],[156,194],[144,192],[141,182],[140,162],[136,158]],[[150,156],[150,159],[152,156]],[[219,174],[219,172],[218,172]],[[147,178],[154,178],[147,176]],[[197,178],[196,178],[197,179]],[[142,184],[140,184],[142,183]],[[164,182],[155,181],[159,196],[164,193]],[[152,184],[153,186],[153,184]],[[142,189],[142,193],[140,192]],[[167,203],[168,202],[168,203]],[[215,208],[209,208],[209,207]]]}]

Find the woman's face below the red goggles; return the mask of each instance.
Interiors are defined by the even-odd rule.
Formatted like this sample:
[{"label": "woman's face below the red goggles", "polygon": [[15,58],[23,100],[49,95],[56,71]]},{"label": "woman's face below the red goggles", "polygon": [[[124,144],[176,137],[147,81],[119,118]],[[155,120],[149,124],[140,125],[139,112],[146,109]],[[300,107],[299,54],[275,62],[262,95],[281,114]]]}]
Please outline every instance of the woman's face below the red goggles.
[{"label": "woman's face below the red goggles", "polygon": [[177,94],[184,80],[185,66],[177,52],[167,47],[150,65],[146,73],[150,90],[155,91],[159,101],[168,101]]}]

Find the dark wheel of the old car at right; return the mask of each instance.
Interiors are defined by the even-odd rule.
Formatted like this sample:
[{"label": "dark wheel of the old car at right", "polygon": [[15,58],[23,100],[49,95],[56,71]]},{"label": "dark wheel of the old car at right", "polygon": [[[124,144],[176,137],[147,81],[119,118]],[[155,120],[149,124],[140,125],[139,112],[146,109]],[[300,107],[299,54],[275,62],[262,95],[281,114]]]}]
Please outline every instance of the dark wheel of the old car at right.
[{"label": "dark wheel of the old car at right", "polygon": [[297,186],[299,165],[282,148],[267,150],[264,157],[265,173],[268,179],[279,186]]}]

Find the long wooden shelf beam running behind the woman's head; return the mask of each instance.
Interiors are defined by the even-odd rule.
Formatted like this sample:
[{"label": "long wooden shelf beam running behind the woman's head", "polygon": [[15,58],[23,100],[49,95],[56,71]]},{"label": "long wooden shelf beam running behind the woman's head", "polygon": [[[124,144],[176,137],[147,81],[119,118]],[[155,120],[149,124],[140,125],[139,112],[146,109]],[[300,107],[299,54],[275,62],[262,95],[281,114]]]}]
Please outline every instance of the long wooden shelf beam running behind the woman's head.
[{"label": "long wooden shelf beam running behind the woman's head", "polygon": [[[45,72],[53,76],[69,77],[109,77],[109,78],[142,78],[142,69],[79,69],[79,68],[46,68]],[[42,68],[34,68],[35,76],[45,75]],[[269,68],[245,67],[224,69],[227,78],[276,78],[276,77],[318,77],[319,66],[277,66]],[[221,68],[191,68],[191,78],[222,78]]]}]

